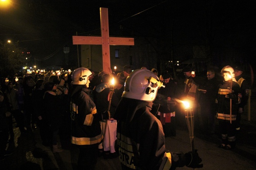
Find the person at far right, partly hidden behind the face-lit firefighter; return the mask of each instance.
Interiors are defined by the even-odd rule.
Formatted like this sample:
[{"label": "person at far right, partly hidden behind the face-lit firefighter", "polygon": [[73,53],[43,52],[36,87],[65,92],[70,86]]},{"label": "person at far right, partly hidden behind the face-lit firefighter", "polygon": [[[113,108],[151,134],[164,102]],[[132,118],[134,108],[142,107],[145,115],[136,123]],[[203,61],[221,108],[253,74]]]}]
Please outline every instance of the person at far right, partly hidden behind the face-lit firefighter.
[{"label": "person at far right, partly hidden behind the face-lit firefighter", "polygon": [[236,130],[240,130],[240,120],[241,120],[241,114],[243,113],[243,108],[247,104],[248,98],[249,98],[249,85],[248,82],[242,77],[243,68],[240,66],[235,67],[235,79],[237,80],[238,85],[241,88],[242,91],[242,98],[241,103],[239,104],[239,109],[237,113],[237,120],[236,120]]}]

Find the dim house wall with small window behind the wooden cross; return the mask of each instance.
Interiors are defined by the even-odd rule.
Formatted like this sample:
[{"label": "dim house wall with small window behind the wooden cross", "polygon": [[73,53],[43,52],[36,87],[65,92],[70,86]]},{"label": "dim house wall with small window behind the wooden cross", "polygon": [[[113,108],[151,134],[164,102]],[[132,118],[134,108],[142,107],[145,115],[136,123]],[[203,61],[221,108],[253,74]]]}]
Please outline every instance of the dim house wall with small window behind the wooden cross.
[{"label": "dim house wall with small window behind the wooden cross", "polygon": [[[139,69],[143,66],[147,69],[157,67],[159,59],[156,47],[145,41],[144,38],[136,38],[134,46],[111,45],[110,46],[110,66],[114,69],[117,66],[117,72],[123,71],[123,66],[129,64],[132,69]],[[116,58],[115,51],[119,50],[119,58]],[[102,47],[101,45],[81,45],[81,66],[91,68],[99,72],[102,71]]]}]

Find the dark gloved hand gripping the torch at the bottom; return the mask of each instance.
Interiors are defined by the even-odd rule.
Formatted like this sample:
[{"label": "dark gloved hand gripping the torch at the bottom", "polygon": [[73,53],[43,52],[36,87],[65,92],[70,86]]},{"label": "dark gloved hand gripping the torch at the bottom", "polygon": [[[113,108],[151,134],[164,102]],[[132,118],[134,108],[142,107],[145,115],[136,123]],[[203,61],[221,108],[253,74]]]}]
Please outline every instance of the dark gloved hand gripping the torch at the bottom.
[{"label": "dark gloved hand gripping the torch at the bottom", "polygon": [[188,152],[185,154],[186,166],[190,168],[202,168],[202,159],[198,156],[197,149],[194,152]]}]

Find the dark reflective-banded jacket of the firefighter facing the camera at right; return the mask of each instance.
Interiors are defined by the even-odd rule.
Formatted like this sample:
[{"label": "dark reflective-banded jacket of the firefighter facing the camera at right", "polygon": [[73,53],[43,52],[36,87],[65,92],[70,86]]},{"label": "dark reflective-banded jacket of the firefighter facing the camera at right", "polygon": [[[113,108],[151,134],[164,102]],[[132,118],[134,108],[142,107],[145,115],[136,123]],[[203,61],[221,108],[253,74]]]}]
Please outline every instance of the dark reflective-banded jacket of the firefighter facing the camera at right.
[{"label": "dark reflective-banded jacket of the firefighter facing the camera at right", "polygon": [[[217,96],[217,119],[230,120],[230,98],[227,96],[230,93],[229,82],[223,82],[219,85]],[[238,103],[240,101],[241,90],[236,82],[232,84],[232,93],[235,94],[235,99],[232,99],[232,120],[236,120],[238,112]]]}]

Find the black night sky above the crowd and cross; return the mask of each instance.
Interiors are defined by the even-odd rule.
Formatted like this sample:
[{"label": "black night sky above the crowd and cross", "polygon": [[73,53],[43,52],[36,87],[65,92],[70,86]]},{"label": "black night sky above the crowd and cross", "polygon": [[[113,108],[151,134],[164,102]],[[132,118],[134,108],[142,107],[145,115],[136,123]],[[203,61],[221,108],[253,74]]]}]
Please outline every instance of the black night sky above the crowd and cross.
[{"label": "black night sky above the crowd and cross", "polygon": [[255,0],[12,0],[0,8],[0,40],[19,41],[36,59],[63,55],[65,45],[76,48],[76,32],[100,35],[100,7],[108,8],[110,36],[172,37],[183,60],[192,57],[182,53],[189,45],[210,46],[216,63],[256,56]]}]

